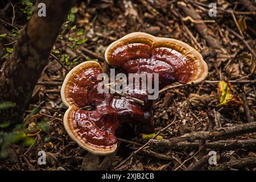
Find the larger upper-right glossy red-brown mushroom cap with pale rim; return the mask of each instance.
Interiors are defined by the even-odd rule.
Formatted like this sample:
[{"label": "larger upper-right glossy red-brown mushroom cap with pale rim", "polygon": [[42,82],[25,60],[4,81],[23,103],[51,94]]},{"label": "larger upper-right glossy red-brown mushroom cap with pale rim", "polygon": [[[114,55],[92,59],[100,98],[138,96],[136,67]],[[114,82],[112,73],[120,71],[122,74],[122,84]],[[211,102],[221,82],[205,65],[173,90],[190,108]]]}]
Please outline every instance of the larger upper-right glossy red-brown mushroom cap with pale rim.
[{"label": "larger upper-right glossy red-brown mushroom cap with pale rim", "polygon": [[158,73],[160,89],[173,82],[198,84],[208,75],[208,66],[196,49],[144,32],[133,32],[110,44],[105,59],[126,73]]}]

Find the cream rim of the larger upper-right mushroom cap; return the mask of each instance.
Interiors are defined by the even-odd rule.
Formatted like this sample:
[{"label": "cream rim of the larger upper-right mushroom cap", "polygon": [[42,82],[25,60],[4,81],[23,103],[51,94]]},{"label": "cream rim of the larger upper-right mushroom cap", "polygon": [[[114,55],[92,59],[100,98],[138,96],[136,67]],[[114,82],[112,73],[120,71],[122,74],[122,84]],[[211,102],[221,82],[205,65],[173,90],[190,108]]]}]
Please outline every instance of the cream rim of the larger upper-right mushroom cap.
[{"label": "cream rim of the larger upper-right mushroom cap", "polygon": [[170,38],[160,38],[155,37],[153,35],[144,33],[144,32],[133,32],[131,34],[127,34],[123,36],[121,39],[116,40],[108,48],[106,48],[105,51],[105,60],[107,63],[110,64],[108,60],[109,53],[112,52],[112,49],[114,49],[119,43],[123,42],[126,39],[133,39],[133,38],[146,38],[152,40],[152,45],[155,43],[172,43],[176,46],[184,48],[185,55],[184,56],[193,56],[195,57],[195,65],[197,65],[197,74],[193,76],[192,80],[189,81],[187,84],[199,84],[200,82],[204,81],[205,78],[208,75],[208,66],[207,63],[205,63],[203,56],[193,47],[189,46],[188,44],[181,42],[180,40],[176,39],[170,39]]}]

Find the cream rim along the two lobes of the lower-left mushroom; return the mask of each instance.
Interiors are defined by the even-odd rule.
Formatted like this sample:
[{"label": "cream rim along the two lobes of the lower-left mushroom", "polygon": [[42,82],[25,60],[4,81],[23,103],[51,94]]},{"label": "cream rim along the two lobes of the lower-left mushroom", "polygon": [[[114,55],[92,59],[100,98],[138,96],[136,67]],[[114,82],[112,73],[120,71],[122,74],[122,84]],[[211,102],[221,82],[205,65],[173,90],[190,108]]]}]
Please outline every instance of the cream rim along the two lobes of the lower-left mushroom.
[{"label": "cream rim along the two lobes of the lower-left mushroom", "polygon": [[89,151],[94,155],[109,155],[109,154],[112,154],[115,150],[117,150],[117,144],[115,144],[112,148],[104,149],[104,148],[94,147],[89,143],[88,144],[86,144],[85,142],[82,143],[81,138],[77,137],[69,127],[69,114],[72,111],[72,109],[76,106],[69,104],[67,97],[65,96],[65,88],[68,85],[70,78],[75,76],[77,74],[77,71],[79,71],[79,69],[81,69],[82,67],[85,67],[86,64],[97,64],[101,68],[100,64],[98,64],[96,61],[85,61],[77,65],[75,68],[71,69],[71,71],[69,71],[68,75],[65,77],[65,80],[63,81],[63,85],[61,86],[61,91],[60,91],[61,100],[63,101],[64,105],[68,107],[68,110],[65,111],[64,118],[63,118],[64,127],[69,137],[71,137],[72,140],[74,140],[77,144],[79,144],[80,147],[84,148],[84,150]]}]

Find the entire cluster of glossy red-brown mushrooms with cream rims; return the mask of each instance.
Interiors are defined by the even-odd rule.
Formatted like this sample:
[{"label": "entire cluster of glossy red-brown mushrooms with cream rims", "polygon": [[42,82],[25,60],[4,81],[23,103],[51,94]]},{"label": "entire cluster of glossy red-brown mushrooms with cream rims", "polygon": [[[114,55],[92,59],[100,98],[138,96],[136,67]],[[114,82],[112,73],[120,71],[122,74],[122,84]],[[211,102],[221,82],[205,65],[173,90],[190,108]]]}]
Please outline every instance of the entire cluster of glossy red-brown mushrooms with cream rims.
[{"label": "entire cluster of glossy red-brown mushrooms with cream rims", "polygon": [[[158,38],[134,32],[110,44],[105,59],[112,67],[129,73],[156,73],[159,89],[174,82],[198,84],[208,74],[201,54],[188,44],[175,39]],[[138,104],[129,97],[99,93],[97,80],[102,73],[96,61],[85,61],[73,68],[61,87],[61,98],[69,109],[64,126],[69,136],[82,148],[97,155],[107,155],[117,148],[115,131],[122,123],[135,126],[135,133],[154,133],[152,101],[147,90],[133,90],[129,96],[143,101]],[[130,89],[130,88],[124,88]],[[92,110],[84,109],[92,106]]]}]

